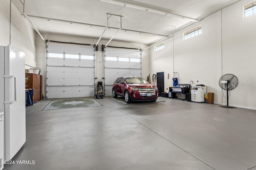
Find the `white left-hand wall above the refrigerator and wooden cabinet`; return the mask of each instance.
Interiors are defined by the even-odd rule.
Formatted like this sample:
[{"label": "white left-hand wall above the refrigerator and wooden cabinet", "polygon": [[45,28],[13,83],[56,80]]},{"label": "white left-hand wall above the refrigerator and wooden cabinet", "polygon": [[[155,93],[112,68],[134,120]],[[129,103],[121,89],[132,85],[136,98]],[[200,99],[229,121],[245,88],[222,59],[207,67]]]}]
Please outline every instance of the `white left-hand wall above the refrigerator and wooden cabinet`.
[{"label": "white left-hand wall above the refrigerator and wooden cabinet", "polygon": [[0,23],[0,45],[20,49],[26,55],[26,68],[36,67],[36,33],[10,0],[0,0]]}]

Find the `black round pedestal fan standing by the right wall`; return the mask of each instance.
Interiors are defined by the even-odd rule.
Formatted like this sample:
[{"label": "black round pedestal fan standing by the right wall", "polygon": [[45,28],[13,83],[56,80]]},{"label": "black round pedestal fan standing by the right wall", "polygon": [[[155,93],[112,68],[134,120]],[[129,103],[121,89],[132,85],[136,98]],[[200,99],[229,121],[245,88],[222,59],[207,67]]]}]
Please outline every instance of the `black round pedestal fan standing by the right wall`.
[{"label": "black round pedestal fan standing by the right wall", "polygon": [[238,78],[233,74],[225,74],[219,80],[219,85],[223,90],[227,91],[227,105],[220,106],[224,108],[236,108],[232,106],[228,106],[228,92],[233,90],[238,85]]}]

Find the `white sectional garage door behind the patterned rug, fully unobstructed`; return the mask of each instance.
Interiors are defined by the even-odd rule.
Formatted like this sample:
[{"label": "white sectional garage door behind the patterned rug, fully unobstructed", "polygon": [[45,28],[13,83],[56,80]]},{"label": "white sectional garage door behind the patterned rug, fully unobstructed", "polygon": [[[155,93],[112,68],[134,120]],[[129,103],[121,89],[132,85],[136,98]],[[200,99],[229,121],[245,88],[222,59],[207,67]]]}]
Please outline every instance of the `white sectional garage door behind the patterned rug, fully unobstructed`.
[{"label": "white sectional garage door behind the patterned rug, fully unobstructed", "polygon": [[47,45],[46,97],[94,96],[94,48]]}]

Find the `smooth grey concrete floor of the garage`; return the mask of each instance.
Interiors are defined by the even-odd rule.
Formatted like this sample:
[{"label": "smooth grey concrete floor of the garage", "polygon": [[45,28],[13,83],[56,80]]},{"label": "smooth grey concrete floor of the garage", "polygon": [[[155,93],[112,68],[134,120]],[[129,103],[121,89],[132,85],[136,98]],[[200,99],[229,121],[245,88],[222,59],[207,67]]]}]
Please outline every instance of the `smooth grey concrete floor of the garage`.
[{"label": "smooth grey concrete floor of the garage", "polygon": [[256,110],[158,99],[50,111],[41,100],[13,158],[31,164],[4,170],[256,170]]}]

